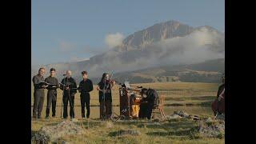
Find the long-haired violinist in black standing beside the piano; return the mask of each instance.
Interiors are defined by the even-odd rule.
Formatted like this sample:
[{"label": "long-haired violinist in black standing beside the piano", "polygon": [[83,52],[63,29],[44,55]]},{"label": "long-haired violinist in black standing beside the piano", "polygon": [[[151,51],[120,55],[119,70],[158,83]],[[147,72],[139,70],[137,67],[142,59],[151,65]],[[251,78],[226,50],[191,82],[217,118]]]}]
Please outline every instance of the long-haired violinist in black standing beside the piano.
[{"label": "long-haired violinist in black standing beside the piano", "polygon": [[111,89],[115,82],[110,81],[109,74],[102,75],[101,82],[98,82],[98,100],[100,103],[100,118],[110,118],[112,115],[112,94]]}]

